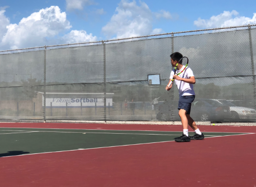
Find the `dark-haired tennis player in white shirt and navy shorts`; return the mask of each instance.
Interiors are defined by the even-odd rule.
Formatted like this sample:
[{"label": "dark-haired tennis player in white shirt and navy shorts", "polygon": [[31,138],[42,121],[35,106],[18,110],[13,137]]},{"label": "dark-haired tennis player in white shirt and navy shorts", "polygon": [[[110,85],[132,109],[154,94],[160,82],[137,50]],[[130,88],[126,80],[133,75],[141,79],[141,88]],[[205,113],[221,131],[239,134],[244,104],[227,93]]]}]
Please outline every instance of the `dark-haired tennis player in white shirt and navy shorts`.
[{"label": "dark-haired tennis player in white shirt and navy shorts", "polygon": [[[182,58],[182,54],[179,52],[175,52],[171,54],[171,65],[175,67],[178,61]],[[185,66],[182,64],[178,64],[176,69],[176,74],[184,69]],[[191,110],[191,103],[194,101],[195,92],[193,90],[193,84],[196,83],[193,71],[190,67],[186,67],[186,69],[179,75],[174,75],[174,70],[171,71],[170,81],[175,79],[175,83],[178,87],[179,92],[179,101],[178,101],[178,115],[180,116],[182,127],[183,127],[183,134],[181,137],[175,138],[176,142],[190,142],[192,140],[201,140],[204,138],[204,135],[198,127],[194,120],[190,117],[190,110]],[[169,83],[167,85],[169,85]],[[171,90],[172,84],[170,87],[166,86],[166,90]],[[195,131],[194,136],[188,135],[188,125],[193,128]]]}]

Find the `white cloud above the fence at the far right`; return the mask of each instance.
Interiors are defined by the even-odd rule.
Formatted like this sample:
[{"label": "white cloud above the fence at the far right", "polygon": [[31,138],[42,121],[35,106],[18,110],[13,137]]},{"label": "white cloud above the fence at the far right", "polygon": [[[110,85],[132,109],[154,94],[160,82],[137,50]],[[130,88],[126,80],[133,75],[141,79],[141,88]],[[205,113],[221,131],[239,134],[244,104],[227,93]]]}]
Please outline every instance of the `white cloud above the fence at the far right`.
[{"label": "white cloud above the fence at the far right", "polygon": [[224,11],[219,15],[213,15],[210,19],[201,19],[194,21],[194,24],[203,28],[225,27],[225,26],[239,26],[256,23],[256,13],[252,18],[240,16],[237,11]]}]

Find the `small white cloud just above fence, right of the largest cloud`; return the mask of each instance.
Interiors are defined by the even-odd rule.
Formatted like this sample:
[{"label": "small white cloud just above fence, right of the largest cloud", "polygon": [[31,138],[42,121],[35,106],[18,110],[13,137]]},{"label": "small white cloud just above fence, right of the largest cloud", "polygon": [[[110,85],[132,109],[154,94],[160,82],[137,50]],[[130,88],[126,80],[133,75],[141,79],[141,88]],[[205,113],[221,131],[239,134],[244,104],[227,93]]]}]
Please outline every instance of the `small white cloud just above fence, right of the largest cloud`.
[{"label": "small white cloud just above fence, right of the largest cloud", "polygon": [[66,43],[81,43],[88,41],[97,41],[97,37],[93,34],[87,34],[85,30],[71,30],[69,34],[62,37],[62,40]]}]

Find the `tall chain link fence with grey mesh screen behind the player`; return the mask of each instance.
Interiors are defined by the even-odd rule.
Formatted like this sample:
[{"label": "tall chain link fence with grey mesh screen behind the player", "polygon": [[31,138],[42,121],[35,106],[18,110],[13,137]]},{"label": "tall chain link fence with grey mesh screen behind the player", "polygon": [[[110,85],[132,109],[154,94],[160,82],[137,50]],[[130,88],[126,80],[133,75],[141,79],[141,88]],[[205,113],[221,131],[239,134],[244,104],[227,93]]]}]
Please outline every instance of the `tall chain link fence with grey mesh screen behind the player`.
[{"label": "tall chain link fence with grey mesh screen behind the player", "polygon": [[256,122],[256,25],[0,51],[0,120],[178,121],[173,52],[194,120]]}]

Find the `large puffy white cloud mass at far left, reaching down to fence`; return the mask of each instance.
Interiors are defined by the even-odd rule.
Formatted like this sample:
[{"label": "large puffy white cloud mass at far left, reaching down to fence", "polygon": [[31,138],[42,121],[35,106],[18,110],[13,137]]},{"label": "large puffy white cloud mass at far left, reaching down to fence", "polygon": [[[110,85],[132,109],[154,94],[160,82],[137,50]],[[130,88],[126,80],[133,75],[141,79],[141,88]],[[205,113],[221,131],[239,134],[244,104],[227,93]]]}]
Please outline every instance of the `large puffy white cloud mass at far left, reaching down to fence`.
[{"label": "large puffy white cloud mass at far left, reaching down to fence", "polygon": [[44,45],[78,43],[96,41],[97,37],[87,34],[85,30],[71,30],[60,36],[72,26],[66,19],[66,13],[58,6],[41,9],[27,18],[21,19],[19,24],[10,24],[0,11],[0,49],[21,49]]}]

